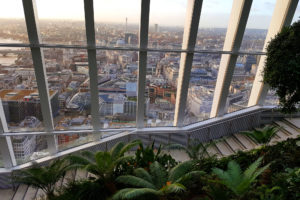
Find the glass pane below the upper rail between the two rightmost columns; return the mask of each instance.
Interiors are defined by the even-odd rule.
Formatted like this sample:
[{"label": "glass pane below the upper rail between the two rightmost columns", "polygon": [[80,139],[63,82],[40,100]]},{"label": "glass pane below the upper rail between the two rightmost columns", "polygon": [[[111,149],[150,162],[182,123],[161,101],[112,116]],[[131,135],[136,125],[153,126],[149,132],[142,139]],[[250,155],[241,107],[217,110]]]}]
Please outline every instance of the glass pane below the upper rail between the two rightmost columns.
[{"label": "glass pane below the upper rail between the two rightmost columns", "polygon": [[238,56],[227,96],[228,113],[247,108],[259,59],[254,55]]}]

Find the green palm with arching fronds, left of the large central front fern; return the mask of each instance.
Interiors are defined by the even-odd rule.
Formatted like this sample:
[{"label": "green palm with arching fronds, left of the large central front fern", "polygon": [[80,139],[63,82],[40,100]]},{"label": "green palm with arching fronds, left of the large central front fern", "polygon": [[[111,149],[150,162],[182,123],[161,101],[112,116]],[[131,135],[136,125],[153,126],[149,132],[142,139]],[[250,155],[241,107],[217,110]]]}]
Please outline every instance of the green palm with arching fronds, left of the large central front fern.
[{"label": "green palm with arching fronds, left of the large central front fern", "polygon": [[96,153],[85,151],[81,155],[70,155],[67,159],[72,168],[85,169],[93,174],[96,181],[103,183],[110,194],[113,194],[116,192],[115,172],[122,164],[127,164],[127,161],[133,158],[133,156],[125,156],[124,154],[138,144],[140,141],[133,141],[128,144],[120,142],[110,151]]}]

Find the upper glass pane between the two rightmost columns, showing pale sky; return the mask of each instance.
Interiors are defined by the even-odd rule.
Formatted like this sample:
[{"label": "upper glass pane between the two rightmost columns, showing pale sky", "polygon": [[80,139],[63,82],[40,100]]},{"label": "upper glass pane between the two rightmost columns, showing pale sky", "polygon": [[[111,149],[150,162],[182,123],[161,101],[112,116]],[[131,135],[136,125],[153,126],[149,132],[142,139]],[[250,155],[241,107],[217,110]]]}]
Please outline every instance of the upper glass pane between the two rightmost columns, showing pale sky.
[{"label": "upper glass pane between the two rightmost columns, showing pale sky", "polygon": [[241,51],[263,51],[276,0],[254,0],[251,6]]}]

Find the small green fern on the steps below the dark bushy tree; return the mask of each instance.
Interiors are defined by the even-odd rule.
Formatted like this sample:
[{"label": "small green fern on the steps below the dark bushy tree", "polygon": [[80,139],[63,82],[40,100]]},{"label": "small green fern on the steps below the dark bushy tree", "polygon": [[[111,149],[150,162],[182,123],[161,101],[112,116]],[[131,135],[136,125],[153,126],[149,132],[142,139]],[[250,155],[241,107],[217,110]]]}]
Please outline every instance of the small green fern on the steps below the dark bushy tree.
[{"label": "small green fern on the steps below the dark bushy tree", "polygon": [[279,129],[276,126],[265,126],[263,129],[245,131],[242,134],[249,136],[258,144],[268,145],[278,131]]}]

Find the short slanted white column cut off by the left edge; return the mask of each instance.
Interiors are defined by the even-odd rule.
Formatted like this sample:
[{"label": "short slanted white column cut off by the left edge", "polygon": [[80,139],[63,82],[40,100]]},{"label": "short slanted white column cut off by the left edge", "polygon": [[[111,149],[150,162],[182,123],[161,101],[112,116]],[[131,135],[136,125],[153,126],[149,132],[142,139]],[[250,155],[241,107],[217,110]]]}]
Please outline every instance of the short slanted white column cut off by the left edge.
[{"label": "short slanted white column cut off by the left edge", "polygon": [[[5,132],[8,132],[8,128],[2,105],[2,100],[0,99],[0,135]],[[9,168],[17,165],[11,138],[9,136],[0,137],[0,152],[2,155],[4,167]]]}]

